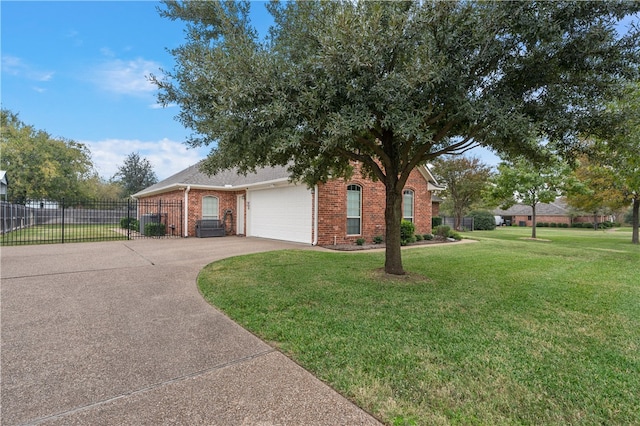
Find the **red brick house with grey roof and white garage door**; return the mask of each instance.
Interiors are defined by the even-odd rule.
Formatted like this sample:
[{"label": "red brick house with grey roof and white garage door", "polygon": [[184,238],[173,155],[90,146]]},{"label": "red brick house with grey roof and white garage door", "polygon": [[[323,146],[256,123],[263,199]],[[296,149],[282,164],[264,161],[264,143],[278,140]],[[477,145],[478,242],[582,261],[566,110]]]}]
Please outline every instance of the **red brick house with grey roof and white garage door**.
[{"label": "red brick house with grey roof and white garage door", "polygon": [[[184,236],[196,235],[200,219],[224,222],[226,235],[247,235],[308,244],[371,242],[384,236],[385,188],[366,179],[358,164],[351,179],[309,189],[290,182],[285,167],[243,176],[226,170],[213,176],[193,165],[133,197],[184,203]],[[404,218],[417,233],[431,232],[432,192],[442,189],[426,166],[417,167],[404,189]]]}]

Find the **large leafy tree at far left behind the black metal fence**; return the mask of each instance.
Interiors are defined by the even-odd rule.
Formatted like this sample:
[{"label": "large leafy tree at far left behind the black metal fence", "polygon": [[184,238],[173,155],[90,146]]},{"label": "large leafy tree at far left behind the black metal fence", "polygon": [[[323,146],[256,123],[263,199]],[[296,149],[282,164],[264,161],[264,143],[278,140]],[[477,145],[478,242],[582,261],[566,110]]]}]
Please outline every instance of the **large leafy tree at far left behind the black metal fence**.
[{"label": "large leafy tree at far left behind the black metal fence", "polygon": [[0,120],[0,168],[9,175],[10,200],[24,203],[86,196],[83,182],[93,173],[93,163],[85,145],[53,138],[24,124],[9,110],[1,111]]}]

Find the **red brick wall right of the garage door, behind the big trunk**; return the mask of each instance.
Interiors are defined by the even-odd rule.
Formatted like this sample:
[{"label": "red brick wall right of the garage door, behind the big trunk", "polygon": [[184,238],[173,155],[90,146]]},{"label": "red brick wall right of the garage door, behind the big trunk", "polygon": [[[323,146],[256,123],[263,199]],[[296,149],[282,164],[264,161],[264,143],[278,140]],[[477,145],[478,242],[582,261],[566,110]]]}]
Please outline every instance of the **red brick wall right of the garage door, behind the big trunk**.
[{"label": "red brick wall right of the garage door, behind the big trunk", "polygon": [[[347,235],[347,186],[362,187],[362,234]],[[416,233],[431,232],[431,193],[427,181],[414,170],[405,189],[414,192],[414,223]],[[318,185],[318,245],[353,244],[358,238],[368,243],[373,237],[385,234],[385,188],[381,182],[371,182],[362,177],[359,167],[351,179],[337,179]]]}]

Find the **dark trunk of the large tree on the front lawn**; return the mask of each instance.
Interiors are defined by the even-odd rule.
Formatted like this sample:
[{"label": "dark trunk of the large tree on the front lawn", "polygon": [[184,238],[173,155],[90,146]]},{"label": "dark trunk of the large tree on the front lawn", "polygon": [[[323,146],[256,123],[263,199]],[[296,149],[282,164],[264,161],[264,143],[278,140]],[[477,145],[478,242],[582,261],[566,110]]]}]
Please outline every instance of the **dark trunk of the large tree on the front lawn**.
[{"label": "dark trunk of the large tree on the front lawn", "polygon": [[402,268],[402,251],[400,246],[400,223],[402,222],[402,190],[396,191],[396,184],[385,185],[386,206],[384,209],[385,221],[385,260],[384,271],[387,274],[404,275]]}]

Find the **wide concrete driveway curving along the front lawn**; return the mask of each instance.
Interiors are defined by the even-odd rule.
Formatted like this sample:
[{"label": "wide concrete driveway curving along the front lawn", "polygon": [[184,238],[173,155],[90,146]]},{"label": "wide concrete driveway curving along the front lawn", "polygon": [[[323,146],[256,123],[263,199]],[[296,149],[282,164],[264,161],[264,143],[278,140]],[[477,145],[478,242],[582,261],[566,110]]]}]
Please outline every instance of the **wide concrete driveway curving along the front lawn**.
[{"label": "wide concrete driveway curving along the front lawn", "polygon": [[255,238],[3,247],[2,425],[374,425],[207,304],[224,257],[308,246]]}]

